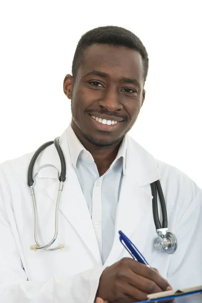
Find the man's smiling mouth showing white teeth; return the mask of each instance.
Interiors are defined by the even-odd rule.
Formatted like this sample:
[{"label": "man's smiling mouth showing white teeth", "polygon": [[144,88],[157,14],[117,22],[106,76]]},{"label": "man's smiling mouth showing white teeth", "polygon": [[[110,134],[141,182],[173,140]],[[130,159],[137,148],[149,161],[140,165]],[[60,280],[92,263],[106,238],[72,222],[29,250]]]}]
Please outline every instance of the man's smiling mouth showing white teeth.
[{"label": "man's smiling mouth showing white teeth", "polygon": [[[91,120],[94,124],[94,126],[98,130],[103,130],[103,131],[113,131],[116,130],[121,123],[124,121],[117,121],[117,120],[110,120],[110,119],[105,119],[105,118],[100,118],[96,116],[89,115],[91,117]],[[118,118],[117,118],[118,119]]]}]

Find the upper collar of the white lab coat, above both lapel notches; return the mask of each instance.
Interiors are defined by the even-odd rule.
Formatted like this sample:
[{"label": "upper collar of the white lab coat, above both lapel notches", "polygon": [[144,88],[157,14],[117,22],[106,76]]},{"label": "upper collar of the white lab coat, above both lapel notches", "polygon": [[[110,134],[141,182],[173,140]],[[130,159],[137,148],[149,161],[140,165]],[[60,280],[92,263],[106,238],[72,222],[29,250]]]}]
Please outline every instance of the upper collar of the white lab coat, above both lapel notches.
[{"label": "upper collar of the white lab coat, above both lapel notches", "polygon": [[[72,159],[68,147],[67,130],[60,137],[60,146],[68,167],[68,165],[72,164]],[[160,179],[160,172],[154,157],[128,135],[125,136],[119,149],[120,155],[125,155],[125,174],[131,175],[133,181],[139,186],[144,186]],[[58,178],[61,171],[61,163],[54,144],[48,146],[41,153],[37,162],[35,174],[37,173],[38,177]]]}]

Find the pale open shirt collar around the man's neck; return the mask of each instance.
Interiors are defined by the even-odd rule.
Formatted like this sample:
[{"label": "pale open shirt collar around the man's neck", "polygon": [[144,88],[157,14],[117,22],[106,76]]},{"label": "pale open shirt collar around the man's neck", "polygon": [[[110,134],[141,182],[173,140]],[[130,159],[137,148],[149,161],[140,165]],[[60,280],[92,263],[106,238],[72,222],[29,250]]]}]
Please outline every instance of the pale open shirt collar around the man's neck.
[{"label": "pale open shirt collar around the man's neck", "polygon": [[[76,167],[77,160],[81,156],[86,160],[93,160],[92,155],[89,153],[88,150],[85,149],[85,147],[81,144],[79,139],[77,138],[75,132],[73,131],[71,125],[67,128],[67,141],[69,145],[69,151],[70,151],[70,157],[71,161],[74,167]],[[127,141],[128,136],[125,135],[123,138],[123,141],[120,145],[120,148],[118,150],[118,154],[114,162],[112,163],[111,167],[114,166],[116,161],[119,158],[123,158],[123,174],[125,175],[125,169],[126,169],[126,150],[127,150]]]}]

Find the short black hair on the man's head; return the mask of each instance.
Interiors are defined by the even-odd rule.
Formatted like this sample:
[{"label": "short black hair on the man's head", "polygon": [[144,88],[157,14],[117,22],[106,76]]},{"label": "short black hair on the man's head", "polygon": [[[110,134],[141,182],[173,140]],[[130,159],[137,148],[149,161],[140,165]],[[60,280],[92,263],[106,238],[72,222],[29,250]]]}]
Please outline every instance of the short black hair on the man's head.
[{"label": "short black hair on the man's head", "polygon": [[72,62],[72,75],[76,78],[78,68],[82,62],[85,49],[92,44],[109,44],[125,46],[135,49],[142,57],[144,67],[144,81],[148,72],[148,54],[141,40],[131,31],[119,26],[102,26],[89,30],[81,36]]}]

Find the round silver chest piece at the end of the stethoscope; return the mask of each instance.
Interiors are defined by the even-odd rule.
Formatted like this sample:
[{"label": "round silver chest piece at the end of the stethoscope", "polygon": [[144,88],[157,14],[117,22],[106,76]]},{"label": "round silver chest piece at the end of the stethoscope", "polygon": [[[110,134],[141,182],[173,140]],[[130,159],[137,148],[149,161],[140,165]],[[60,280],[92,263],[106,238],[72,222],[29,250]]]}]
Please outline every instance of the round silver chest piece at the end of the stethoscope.
[{"label": "round silver chest piece at the end of the stethoscope", "polygon": [[174,254],[177,249],[177,238],[172,232],[167,232],[165,236],[156,237],[154,246],[158,251],[164,250],[167,254]]}]

